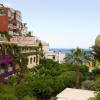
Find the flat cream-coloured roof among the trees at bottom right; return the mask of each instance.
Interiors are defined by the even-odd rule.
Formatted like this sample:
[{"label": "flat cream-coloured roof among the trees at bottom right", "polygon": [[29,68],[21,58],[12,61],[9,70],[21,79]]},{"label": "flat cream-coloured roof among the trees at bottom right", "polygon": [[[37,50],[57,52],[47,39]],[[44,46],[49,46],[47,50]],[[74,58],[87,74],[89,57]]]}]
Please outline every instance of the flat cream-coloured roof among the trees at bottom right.
[{"label": "flat cream-coloured roof among the trees at bottom right", "polygon": [[95,91],[66,88],[56,97],[57,100],[88,100],[95,96]]}]

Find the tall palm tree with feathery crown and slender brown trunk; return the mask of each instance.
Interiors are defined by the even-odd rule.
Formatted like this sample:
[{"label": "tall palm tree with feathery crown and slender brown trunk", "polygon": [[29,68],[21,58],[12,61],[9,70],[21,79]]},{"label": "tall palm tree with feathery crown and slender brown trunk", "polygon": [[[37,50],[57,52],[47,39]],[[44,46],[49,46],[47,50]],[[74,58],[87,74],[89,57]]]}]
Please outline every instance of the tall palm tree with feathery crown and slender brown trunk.
[{"label": "tall palm tree with feathery crown and slender brown trunk", "polygon": [[80,84],[80,66],[84,65],[90,59],[90,55],[80,48],[71,50],[71,53],[67,55],[65,61],[69,61],[76,66],[76,88],[79,88]]}]

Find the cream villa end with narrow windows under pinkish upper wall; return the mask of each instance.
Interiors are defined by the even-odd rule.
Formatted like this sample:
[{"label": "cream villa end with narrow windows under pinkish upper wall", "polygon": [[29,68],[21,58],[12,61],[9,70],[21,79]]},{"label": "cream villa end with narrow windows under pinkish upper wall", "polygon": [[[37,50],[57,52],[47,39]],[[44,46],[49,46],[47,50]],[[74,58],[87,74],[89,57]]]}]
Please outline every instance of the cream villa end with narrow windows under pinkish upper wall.
[{"label": "cream villa end with narrow windows under pinkish upper wall", "polygon": [[39,53],[41,51],[35,36],[12,36],[10,41],[16,43],[20,47],[21,54],[28,54],[28,68],[33,68],[39,64]]}]

